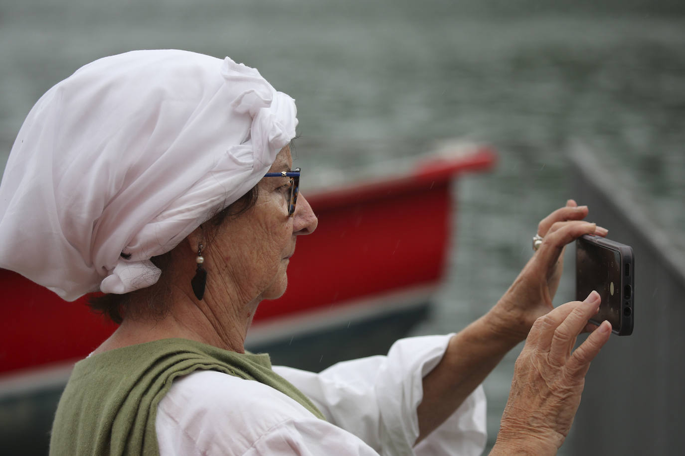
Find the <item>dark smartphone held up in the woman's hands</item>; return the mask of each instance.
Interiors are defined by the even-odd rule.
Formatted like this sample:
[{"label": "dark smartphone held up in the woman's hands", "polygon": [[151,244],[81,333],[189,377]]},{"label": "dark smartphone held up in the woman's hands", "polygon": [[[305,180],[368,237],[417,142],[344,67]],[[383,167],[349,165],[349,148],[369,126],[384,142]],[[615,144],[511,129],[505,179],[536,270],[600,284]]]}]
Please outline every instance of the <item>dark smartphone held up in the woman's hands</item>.
[{"label": "dark smartphone held up in the woman's hands", "polygon": [[599,312],[590,322],[608,320],[614,334],[632,334],[634,271],[630,245],[593,234],[575,241],[575,299],[582,301],[593,290],[601,296]]}]

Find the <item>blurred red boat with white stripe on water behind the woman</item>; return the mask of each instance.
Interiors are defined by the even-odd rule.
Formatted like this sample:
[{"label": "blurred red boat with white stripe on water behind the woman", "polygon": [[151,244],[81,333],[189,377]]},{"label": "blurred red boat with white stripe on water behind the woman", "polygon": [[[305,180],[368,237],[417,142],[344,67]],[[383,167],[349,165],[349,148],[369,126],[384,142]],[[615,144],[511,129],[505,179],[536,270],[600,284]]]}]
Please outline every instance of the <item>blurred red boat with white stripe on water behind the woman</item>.
[{"label": "blurred red boat with white stripe on water behind the woman", "polygon": [[[288,290],[260,305],[247,348],[312,371],[386,351],[425,318],[445,274],[453,178],[494,163],[490,148],[461,146],[404,174],[307,191],[319,227],[298,239]],[[44,454],[71,366],[116,325],[89,312],[86,297],[61,301],[12,271],[0,269],[0,287],[0,417],[22,417],[3,423],[0,444]]]}]

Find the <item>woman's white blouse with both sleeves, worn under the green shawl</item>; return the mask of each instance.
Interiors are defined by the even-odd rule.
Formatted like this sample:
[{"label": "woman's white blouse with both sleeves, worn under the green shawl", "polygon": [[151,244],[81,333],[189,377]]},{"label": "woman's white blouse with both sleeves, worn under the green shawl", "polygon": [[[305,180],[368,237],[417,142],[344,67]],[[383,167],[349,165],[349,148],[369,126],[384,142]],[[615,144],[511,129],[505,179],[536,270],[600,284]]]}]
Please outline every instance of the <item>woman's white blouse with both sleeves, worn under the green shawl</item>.
[{"label": "woman's white blouse with both sleeves, worn under the green shawl", "polygon": [[318,374],[274,366],[327,422],[257,381],[195,371],[176,379],[158,405],[160,455],[479,455],[486,442],[482,386],[414,446],[422,379],[450,337],[401,339],[387,356],[340,362]]}]

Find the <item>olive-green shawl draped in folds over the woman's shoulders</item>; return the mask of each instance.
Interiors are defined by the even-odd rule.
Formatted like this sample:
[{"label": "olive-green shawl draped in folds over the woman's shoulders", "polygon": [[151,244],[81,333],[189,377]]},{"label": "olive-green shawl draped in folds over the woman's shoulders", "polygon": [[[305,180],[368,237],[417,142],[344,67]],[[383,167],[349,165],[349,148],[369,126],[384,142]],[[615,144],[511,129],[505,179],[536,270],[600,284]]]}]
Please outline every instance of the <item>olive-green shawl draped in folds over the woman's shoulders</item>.
[{"label": "olive-green shawl draped in folds over the woman's shoulders", "polygon": [[259,381],[325,419],[304,394],[271,370],[267,354],[162,339],[76,363],[55,415],[50,455],[159,455],[157,405],[173,379],[198,369]]}]

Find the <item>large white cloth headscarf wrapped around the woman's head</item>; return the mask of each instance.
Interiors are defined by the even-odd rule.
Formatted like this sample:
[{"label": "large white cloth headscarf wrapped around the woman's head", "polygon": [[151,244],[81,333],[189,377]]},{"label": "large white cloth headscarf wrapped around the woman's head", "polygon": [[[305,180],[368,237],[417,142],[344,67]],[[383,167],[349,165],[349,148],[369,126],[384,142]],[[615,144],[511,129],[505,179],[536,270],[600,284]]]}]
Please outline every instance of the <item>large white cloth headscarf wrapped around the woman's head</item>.
[{"label": "large white cloth headscarf wrapped around the woman's head", "polygon": [[256,185],[295,116],[292,98],[228,57],[133,51],[80,68],[14,142],[0,267],[69,301],[154,284],[150,258]]}]

